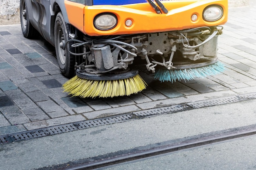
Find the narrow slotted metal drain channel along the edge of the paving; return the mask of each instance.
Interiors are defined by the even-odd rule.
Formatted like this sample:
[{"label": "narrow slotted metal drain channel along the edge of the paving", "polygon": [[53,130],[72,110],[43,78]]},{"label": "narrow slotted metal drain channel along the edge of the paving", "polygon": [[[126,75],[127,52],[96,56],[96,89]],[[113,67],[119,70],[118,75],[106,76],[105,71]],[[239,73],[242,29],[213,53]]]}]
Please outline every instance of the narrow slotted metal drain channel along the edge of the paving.
[{"label": "narrow slotted metal drain channel along the edge of the paving", "polygon": [[123,115],[117,115],[112,117],[103,117],[99,119],[79,121],[79,122],[70,123],[70,124],[63,124],[63,125],[52,126],[47,128],[40,128],[40,129],[28,130],[24,132],[1,135],[0,144],[8,144],[12,142],[27,140],[27,139],[34,139],[38,137],[56,135],[63,132],[71,132],[74,130],[81,130],[81,129],[91,128],[96,126],[114,124],[114,123],[129,121],[133,119],[142,119],[142,118],[151,117],[155,115],[177,113],[177,112],[192,110],[196,108],[241,102],[249,99],[256,99],[256,93],[222,97],[218,99],[209,99],[209,100],[203,100],[199,102],[190,102],[186,104],[177,104],[173,106],[153,108],[149,110],[141,110],[133,113],[126,113]]}]

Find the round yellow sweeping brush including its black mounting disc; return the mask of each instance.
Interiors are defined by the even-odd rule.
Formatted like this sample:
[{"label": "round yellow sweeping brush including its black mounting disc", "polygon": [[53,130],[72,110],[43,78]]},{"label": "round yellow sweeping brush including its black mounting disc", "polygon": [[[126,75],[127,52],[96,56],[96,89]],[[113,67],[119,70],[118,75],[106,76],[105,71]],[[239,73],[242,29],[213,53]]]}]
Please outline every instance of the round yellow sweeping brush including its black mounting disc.
[{"label": "round yellow sweeping brush including its black mounting disc", "polygon": [[146,82],[138,75],[137,70],[119,74],[76,72],[75,77],[63,84],[64,92],[83,98],[131,95],[145,88]]}]

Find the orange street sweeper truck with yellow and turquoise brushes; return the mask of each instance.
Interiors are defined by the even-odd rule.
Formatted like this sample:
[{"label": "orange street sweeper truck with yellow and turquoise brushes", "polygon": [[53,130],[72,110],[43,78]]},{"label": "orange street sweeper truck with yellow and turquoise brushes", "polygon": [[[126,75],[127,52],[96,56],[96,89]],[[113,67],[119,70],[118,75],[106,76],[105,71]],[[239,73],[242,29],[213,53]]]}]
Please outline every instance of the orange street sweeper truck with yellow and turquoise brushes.
[{"label": "orange street sweeper truck with yellow and turquoise brushes", "polygon": [[134,60],[161,82],[216,75],[228,0],[20,0],[26,38],[55,46],[64,91],[79,97],[138,93]]}]

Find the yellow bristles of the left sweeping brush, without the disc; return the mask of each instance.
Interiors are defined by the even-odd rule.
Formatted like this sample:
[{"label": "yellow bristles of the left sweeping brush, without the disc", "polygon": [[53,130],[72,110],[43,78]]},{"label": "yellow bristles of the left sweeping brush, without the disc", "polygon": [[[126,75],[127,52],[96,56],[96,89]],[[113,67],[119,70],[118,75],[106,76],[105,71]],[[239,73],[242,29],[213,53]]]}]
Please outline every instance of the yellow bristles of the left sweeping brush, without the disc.
[{"label": "yellow bristles of the left sweeping brush, without the disc", "polygon": [[139,76],[118,80],[90,80],[73,77],[63,84],[64,92],[79,97],[116,97],[141,92],[146,82]]}]

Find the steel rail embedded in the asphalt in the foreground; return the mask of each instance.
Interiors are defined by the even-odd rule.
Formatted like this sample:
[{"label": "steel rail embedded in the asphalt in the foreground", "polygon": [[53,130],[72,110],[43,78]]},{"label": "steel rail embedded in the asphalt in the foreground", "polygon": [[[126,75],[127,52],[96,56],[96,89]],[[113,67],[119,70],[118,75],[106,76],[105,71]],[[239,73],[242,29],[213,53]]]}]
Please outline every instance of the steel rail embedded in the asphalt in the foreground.
[{"label": "steel rail embedded in the asphalt in the foreground", "polygon": [[[178,141],[173,144],[165,144],[164,146],[154,147],[146,150],[139,150],[135,152],[126,152],[121,154],[109,154],[99,156],[98,158],[90,158],[85,160],[85,162],[80,163],[70,163],[70,166],[58,168],[58,170],[94,170],[98,168],[107,168],[108,166],[117,165],[119,163],[125,163],[130,161],[135,161],[144,158],[150,158],[153,156],[168,154],[175,151],[197,148],[200,146],[205,146],[208,144],[216,144],[218,142],[225,142],[232,139],[238,139],[242,137],[249,137],[256,135],[256,125],[246,126],[240,130],[234,128],[231,131],[217,132],[214,135],[206,135],[203,137],[194,137],[189,140]],[[86,162],[87,161],[87,162]]]}]

